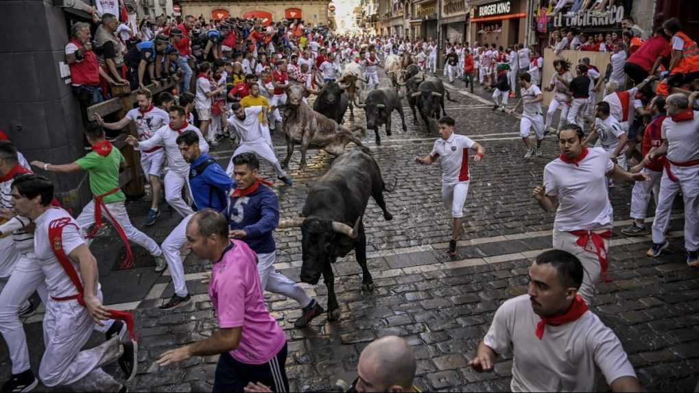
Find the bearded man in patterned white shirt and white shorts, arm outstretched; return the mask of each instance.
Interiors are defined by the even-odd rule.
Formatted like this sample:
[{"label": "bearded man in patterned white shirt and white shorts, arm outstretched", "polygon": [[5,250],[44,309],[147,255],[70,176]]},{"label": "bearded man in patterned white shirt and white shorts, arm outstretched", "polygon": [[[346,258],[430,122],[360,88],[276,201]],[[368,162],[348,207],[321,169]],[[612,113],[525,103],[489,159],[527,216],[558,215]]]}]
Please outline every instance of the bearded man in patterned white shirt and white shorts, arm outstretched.
[{"label": "bearded man in patterned white shirt and white shorts, arm outstretched", "polygon": [[[162,94],[169,93],[164,92]],[[134,122],[138,133],[138,141],[145,141],[153,136],[160,127],[167,125],[170,118],[165,110],[153,106],[153,96],[150,90],[136,90],[136,99],[138,100],[138,108],[129,110],[122,120],[115,123],[107,123],[102,120],[99,114],[95,114],[95,120],[106,129],[124,129],[130,122]],[[147,177],[148,183],[150,183],[150,194],[153,198],[150,202],[148,215],[143,222],[143,225],[146,227],[155,224],[155,220],[160,215],[159,203],[162,190],[160,176],[163,172],[164,160],[165,153],[162,146],[156,146],[150,150],[142,150],[140,152],[140,167],[143,169],[143,174]]]}]

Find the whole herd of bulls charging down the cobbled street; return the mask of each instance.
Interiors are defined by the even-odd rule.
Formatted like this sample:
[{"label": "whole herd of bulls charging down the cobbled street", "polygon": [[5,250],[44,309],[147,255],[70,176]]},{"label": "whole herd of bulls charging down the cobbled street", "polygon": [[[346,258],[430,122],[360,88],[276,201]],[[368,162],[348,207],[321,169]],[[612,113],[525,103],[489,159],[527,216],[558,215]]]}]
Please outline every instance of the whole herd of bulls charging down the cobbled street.
[{"label": "whole herd of bulls charging down the cobbled street", "polygon": [[[361,142],[361,134],[373,129],[376,144],[381,144],[379,127],[385,126],[391,136],[391,114],[394,110],[401,115],[403,131],[405,114],[402,99],[408,99],[412,110],[413,124],[418,124],[417,112],[428,132],[436,131],[436,119],[445,112],[445,98],[449,92],[439,78],[426,76],[418,66],[401,67],[401,57],[390,55],[385,59],[384,69],[391,80],[391,87],[371,90],[363,96],[363,78],[359,64],[348,63],[336,81],[320,83],[320,90],[309,89],[301,84],[287,86],[287,103],[284,109],[282,129],[287,142],[287,157],[282,161],[284,168],[294,152],[294,144],[301,145],[301,170],[306,167],[306,152],[313,145],[333,156],[333,164],[327,173],[315,182],[308,193],[301,217],[282,220],[279,229],[300,227],[303,240],[303,264],[301,281],[315,285],[322,275],[328,289],[328,320],[338,320],[340,308],[334,291],[334,275],[331,264],[338,257],[345,257],[354,250],[356,261],[361,266],[362,290],[373,291],[374,285],[366,265],[366,234],[363,215],[369,197],[381,208],[385,220],[393,216],[386,208],[383,192],[391,192],[396,186],[387,187],[381,169],[370,150]],[[405,91],[405,93],[403,93]],[[317,97],[311,109],[304,98],[309,94]],[[350,121],[354,120],[354,107],[363,108],[366,127],[342,125],[347,109]],[[359,150],[348,150],[347,144],[354,143]]]}]

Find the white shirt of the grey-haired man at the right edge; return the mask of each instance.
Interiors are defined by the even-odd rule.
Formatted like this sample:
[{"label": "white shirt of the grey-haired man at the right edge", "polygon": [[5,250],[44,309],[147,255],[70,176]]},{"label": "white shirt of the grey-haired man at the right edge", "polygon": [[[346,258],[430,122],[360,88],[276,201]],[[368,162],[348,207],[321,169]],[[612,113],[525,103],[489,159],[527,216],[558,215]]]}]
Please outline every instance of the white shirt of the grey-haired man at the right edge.
[{"label": "white shirt of the grey-haired man at the right edge", "polygon": [[675,122],[665,117],[661,125],[663,139],[668,140],[668,159],[672,162],[688,162],[699,159],[699,112],[694,110],[694,120]]}]

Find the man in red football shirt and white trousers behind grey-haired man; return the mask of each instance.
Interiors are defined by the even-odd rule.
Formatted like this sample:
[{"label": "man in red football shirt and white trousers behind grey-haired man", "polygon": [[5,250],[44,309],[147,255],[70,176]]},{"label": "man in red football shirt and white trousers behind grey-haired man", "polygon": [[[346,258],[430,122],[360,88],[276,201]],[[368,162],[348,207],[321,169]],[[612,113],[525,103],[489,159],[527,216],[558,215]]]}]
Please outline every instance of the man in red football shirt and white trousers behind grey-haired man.
[{"label": "man in red football shirt and white trousers behind grey-haired man", "polygon": [[643,160],[630,169],[631,173],[645,173],[649,180],[645,182],[636,182],[635,185],[633,185],[630,214],[633,219],[633,224],[621,229],[621,233],[626,236],[642,236],[649,233],[644,221],[648,203],[651,198],[651,192],[655,198],[656,205],[658,204],[658,195],[660,194],[660,180],[663,177],[665,157],[651,159],[649,152],[660,147],[663,143],[661,124],[663,124],[663,120],[667,117],[667,113],[665,112],[665,97],[654,97],[649,103],[649,107],[654,117],[643,133],[643,143],[641,147]]}]

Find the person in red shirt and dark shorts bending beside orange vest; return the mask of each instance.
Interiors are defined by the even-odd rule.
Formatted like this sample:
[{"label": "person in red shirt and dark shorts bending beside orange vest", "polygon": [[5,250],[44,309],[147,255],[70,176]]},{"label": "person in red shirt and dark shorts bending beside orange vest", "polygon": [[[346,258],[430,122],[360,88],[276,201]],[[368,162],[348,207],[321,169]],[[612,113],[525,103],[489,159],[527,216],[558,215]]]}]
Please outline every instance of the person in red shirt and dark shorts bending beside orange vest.
[{"label": "person in red shirt and dark shorts bending beside orange vest", "polygon": [[654,75],[658,67],[670,59],[672,47],[665,30],[658,29],[651,38],[626,59],[624,72],[638,85],[648,76]]}]

